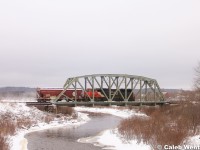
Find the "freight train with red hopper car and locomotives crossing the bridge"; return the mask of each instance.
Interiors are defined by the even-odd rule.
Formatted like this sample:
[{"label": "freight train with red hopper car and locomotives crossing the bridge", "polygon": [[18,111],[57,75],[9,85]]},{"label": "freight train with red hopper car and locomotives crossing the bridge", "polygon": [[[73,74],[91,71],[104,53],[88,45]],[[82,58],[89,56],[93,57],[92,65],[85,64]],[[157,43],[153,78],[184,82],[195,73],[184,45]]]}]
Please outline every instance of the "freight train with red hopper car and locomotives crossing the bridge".
[{"label": "freight train with red hopper car and locomotives crossing the bridge", "polygon": [[[38,102],[48,102],[50,100],[56,99],[56,97],[63,91],[62,88],[38,88],[37,89],[37,101]],[[58,99],[58,101],[74,101],[75,99],[77,101],[89,101],[93,98],[96,101],[107,101],[106,96],[109,95],[109,89],[103,89],[104,92],[102,92],[101,89],[95,89],[94,91],[91,89],[87,89],[86,91],[83,91],[82,89],[67,89],[64,94]],[[116,90],[111,89],[111,96],[115,93]],[[127,95],[131,94],[132,90],[127,89]],[[120,92],[122,95],[125,95],[125,89],[120,89]],[[116,92],[115,96],[113,98],[114,101],[122,101],[122,96],[120,92]],[[106,95],[104,95],[106,94]],[[65,96],[64,96],[65,95]],[[134,101],[135,95],[134,93],[131,94],[129,101]]]}]

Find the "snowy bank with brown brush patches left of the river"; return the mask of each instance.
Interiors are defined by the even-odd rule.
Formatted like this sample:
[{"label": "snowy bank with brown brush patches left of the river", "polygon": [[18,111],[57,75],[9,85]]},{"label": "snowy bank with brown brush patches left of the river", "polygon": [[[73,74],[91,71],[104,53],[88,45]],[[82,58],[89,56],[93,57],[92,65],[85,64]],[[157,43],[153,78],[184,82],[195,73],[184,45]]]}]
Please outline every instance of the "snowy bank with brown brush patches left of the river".
[{"label": "snowy bank with brown brush patches left of the river", "polygon": [[[0,118],[4,117],[12,123],[12,128],[14,127],[16,131],[14,135],[4,133],[5,135],[1,136],[7,137],[6,142],[10,150],[26,150],[28,141],[24,135],[27,133],[62,126],[77,127],[90,120],[85,113],[77,112],[76,116],[76,118],[64,115],[57,117],[55,114],[40,111],[35,107],[27,107],[23,103],[0,103]],[[2,121],[5,122],[3,119]],[[8,127],[5,128],[8,129]]]}]

